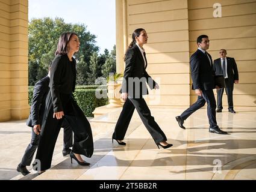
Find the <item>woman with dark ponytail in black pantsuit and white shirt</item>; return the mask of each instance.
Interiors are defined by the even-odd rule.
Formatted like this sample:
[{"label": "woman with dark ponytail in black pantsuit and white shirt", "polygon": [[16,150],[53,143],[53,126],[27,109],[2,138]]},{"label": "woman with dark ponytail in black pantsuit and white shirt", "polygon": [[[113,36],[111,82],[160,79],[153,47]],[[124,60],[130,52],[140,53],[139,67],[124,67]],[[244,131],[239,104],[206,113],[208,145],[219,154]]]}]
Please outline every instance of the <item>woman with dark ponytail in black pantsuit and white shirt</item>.
[{"label": "woman with dark ponytail in black pantsuit and white shirt", "polygon": [[136,109],[158,148],[161,146],[166,149],[172,146],[172,144],[166,142],[165,134],[158,126],[157,122],[155,122],[154,117],[151,116],[148,105],[142,97],[142,95],[148,94],[146,83],[148,83],[151,89],[159,89],[158,84],[152,80],[151,76],[146,72],[148,64],[143,45],[146,44],[147,41],[148,35],[145,29],[136,29],[133,32],[133,41],[125,53],[125,72],[121,89],[121,97],[125,100],[125,104],[123,104],[123,110],[117,120],[112,142],[114,139],[119,145],[126,145],[122,140],[125,137],[134,109]]}]

